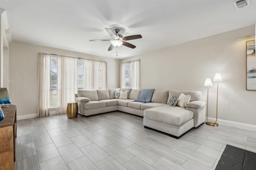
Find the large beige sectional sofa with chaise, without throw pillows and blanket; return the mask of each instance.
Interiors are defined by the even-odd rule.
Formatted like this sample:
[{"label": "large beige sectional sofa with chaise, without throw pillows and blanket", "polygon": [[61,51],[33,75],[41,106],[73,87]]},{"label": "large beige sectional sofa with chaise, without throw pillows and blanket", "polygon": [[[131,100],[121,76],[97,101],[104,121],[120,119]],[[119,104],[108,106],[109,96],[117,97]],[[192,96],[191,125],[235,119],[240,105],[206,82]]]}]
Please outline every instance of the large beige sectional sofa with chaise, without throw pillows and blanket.
[{"label": "large beige sectional sofa with chaise, without throw pillows and blanket", "polygon": [[[114,99],[115,91],[127,91],[127,99]],[[206,103],[201,92],[154,90],[149,103],[134,102],[140,91],[130,88],[78,90],[78,94],[75,94],[78,113],[85,116],[116,110],[131,113],[144,117],[144,127],[168,133],[176,138],[205,121]],[[190,95],[190,102],[185,107],[170,106],[170,98],[178,98],[181,93]]]}]

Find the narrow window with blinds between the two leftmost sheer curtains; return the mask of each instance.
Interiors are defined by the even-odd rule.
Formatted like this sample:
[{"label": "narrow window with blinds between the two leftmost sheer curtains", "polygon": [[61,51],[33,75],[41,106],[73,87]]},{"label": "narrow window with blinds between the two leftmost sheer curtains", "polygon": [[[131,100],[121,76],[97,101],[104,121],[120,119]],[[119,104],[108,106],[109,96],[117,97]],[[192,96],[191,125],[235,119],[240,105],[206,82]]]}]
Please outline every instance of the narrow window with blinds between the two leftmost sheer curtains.
[{"label": "narrow window with blinds between the two leftmost sheer curtains", "polygon": [[57,107],[57,56],[51,55],[50,57],[50,108]]}]

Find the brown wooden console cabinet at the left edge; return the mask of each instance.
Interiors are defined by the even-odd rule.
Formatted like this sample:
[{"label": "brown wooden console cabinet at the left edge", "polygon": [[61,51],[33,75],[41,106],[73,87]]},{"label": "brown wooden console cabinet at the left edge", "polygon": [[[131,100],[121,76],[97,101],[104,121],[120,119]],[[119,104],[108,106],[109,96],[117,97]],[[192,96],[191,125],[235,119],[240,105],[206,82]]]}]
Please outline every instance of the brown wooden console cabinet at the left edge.
[{"label": "brown wooden console cabinet at the left edge", "polygon": [[2,108],[4,119],[0,121],[0,170],[15,169],[16,106]]}]

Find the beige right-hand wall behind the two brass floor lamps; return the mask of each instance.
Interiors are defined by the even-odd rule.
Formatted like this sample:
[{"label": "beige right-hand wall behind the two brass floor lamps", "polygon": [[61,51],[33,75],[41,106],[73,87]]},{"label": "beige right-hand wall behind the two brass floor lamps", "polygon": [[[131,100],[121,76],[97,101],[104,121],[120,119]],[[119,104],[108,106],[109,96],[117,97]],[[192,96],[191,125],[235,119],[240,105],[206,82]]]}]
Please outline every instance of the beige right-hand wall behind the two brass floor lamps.
[{"label": "beige right-hand wall behind the two brass floor lamps", "polygon": [[[236,39],[255,35],[255,25],[190,41],[173,47],[122,59],[120,63],[140,59],[140,88],[199,90],[207,96],[208,116],[216,117],[216,72],[219,83],[218,118],[256,125],[256,91],[246,90],[246,41]],[[254,38],[253,38],[254,39]]]}]

